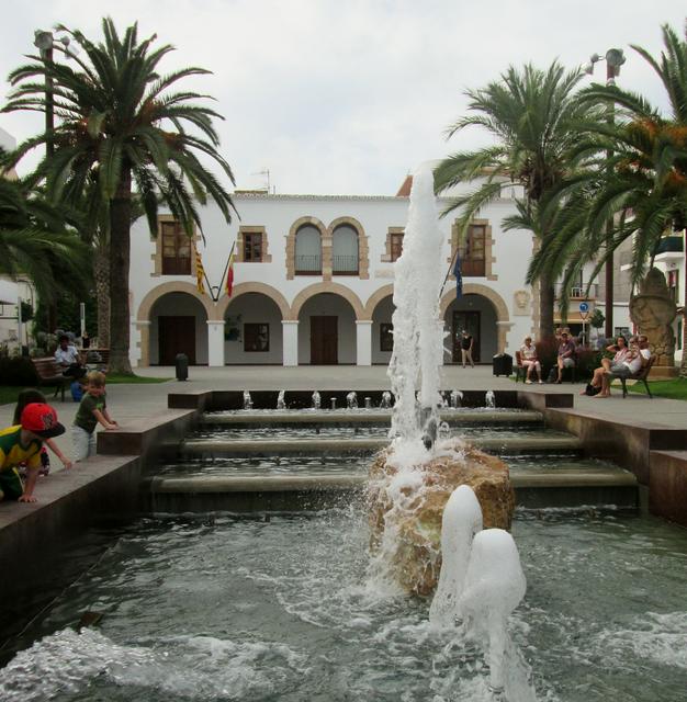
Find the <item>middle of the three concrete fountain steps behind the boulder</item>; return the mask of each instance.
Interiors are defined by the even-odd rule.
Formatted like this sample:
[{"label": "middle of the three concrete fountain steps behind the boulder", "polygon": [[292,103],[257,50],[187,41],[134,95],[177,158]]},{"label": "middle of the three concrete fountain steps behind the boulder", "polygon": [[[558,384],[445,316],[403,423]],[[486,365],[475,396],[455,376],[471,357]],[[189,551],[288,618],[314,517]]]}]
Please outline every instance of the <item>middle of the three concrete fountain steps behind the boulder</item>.
[{"label": "middle of the three concrete fountain steps behind the boulder", "polygon": [[[582,450],[576,437],[525,437],[525,438],[475,438],[471,443],[487,453],[519,455],[539,453],[578,453]],[[362,439],[254,439],[254,440],[205,440],[192,439],[180,445],[184,456],[273,456],[284,454],[320,455],[356,454],[370,455],[388,445],[388,439],[372,437]]]}]

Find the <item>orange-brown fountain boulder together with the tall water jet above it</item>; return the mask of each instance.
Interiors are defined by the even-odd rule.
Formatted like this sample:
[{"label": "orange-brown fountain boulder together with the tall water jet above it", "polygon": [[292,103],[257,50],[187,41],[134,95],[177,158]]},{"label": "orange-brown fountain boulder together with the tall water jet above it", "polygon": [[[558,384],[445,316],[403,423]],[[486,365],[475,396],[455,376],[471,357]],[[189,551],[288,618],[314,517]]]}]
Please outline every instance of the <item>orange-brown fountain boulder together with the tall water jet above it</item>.
[{"label": "orange-brown fountain boulder together with the tall water jet above it", "polygon": [[[395,396],[390,448],[370,471],[369,509],[374,564],[405,590],[428,595],[440,568],[443,508],[451,492],[470,485],[487,526],[508,529],[515,506],[508,467],[459,440],[437,443],[443,280],[431,171],[414,177],[404,248],[396,261],[394,350],[388,376]],[[416,408],[416,382],[419,381]]]}]

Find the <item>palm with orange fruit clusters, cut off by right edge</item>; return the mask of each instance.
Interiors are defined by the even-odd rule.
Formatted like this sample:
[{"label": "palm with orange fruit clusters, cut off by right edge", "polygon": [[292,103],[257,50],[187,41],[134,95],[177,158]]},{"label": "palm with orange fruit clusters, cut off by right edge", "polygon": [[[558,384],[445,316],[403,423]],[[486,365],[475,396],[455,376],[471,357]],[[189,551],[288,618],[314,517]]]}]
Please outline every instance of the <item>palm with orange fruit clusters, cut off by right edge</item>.
[{"label": "palm with orange fruit clusters, cut off by right edge", "polygon": [[[594,86],[582,99],[596,104],[612,102],[620,118],[615,125],[588,125],[587,138],[579,139],[578,152],[599,156],[589,168],[561,184],[551,202],[576,200],[577,230],[561,226],[548,247],[539,252],[536,268],[560,267],[564,262],[561,246],[575,239],[577,257],[567,261],[567,273],[585,260],[592,260],[604,238],[605,222],[615,217],[612,251],[632,240],[632,284],[643,278],[647,262],[653,263],[661,239],[687,226],[687,41],[668,25],[662,27],[664,50],[654,59],[640,46],[632,48],[644,58],[663,83],[669,114],[662,115],[642,95],[616,87]],[[572,195],[579,190],[584,197]],[[566,210],[566,206],[563,207]],[[582,213],[583,224],[579,226]],[[568,212],[568,216],[571,213]],[[685,244],[685,242],[684,242]],[[570,241],[568,241],[570,246]],[[685,247],[687,270],[687,247]],[[547,250],[548,249],[548,250]],[[556,263],[558,261],[558,263]],[[599,261],[598,267],[602,264]],[[566,273],[566,274],[567,274]],[[686,319],[687,321],[687,319]],[[687,376],[687,325],[683,324],[683,362],[680,375]]]}]

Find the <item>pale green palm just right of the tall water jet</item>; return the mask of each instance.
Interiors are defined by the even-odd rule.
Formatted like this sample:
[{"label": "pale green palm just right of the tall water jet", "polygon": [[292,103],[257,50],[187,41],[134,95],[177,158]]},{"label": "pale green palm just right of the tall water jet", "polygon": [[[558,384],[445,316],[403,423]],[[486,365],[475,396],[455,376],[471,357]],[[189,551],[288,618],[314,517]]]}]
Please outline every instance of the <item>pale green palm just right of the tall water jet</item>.
[{"label": "pale green palm just right of the tall water jet", "polygon": [[[449,156],[435,171],[440,193],[462,182],[483,181],[474,192],[453,197],[444,210],[444,214],[462,210],[462,231],[481,207],[500,197],[502,191],[514,183],[521,185],[525,193],[519,202],[520,214],[531,220],[533,208],[570,169],[567,154],[575,145],[572,125],[589,111],[574,95],[581,78],[579,70],[565,71],[558,61],[545,71],[531,65],[521,70],[511,66],[500,81],[466,91],[468,109],[473,114],[453,124],[449,138],[465,127],[480,126],[495,143]],[[539,241],[548,236],[545,229],[532,231]],[[545,273],[539,279],[540,337],[553,331],[554,280]]]}]

